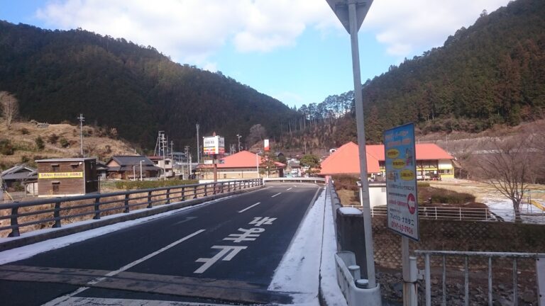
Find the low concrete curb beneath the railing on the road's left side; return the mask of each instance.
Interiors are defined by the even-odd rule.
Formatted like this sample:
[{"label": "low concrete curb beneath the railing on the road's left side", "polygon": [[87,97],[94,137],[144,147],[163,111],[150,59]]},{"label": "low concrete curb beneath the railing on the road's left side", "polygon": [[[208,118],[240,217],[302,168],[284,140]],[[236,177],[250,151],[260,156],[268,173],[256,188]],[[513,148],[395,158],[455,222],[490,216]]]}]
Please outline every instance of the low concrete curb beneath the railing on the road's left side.
[{"label": "low concrete curb beneath the railing on the road's left side", "polygon": [[127,214],[107,216],[99,220],[86,220],[86,221],[79,222],[82,224],[72,223],[71,225],[65,225],[64,227],[59,227],[55,229],[38,229],[33,232],[23,233],[21,234],[20,237],[1,238],[0,251],[15,249],[21,246],[26,246],[28,244],[35,244],[38,242],[43,242],[48,239],[64,237],[70,234],[84,232],[89,229],[96,229],[99,227],[104,227],[106,225],[113,225],[119,222],[126,222],[126,221],[140,219],[142,217],[149,217],[151,215],[157,215],[163,212],[169,212],[171,210],[185,208],[187,206],[201,204],[210,200],[216,200],[219,198],[234,196],[240,193],[255,191],[263,187],[264,187],[263,185],[257,186],[257,187],[251,187],[251,188],[243,189],[241,191],[231,191],[229,193],[221,193],[221,194],[216,194],[214,196],[207,196],[204,198],[197,198],[193,200],[185,200],[183,202],[175,202],[170,204],[158,205],[153,208],[143,208],[141,210],[128,212]]}]

